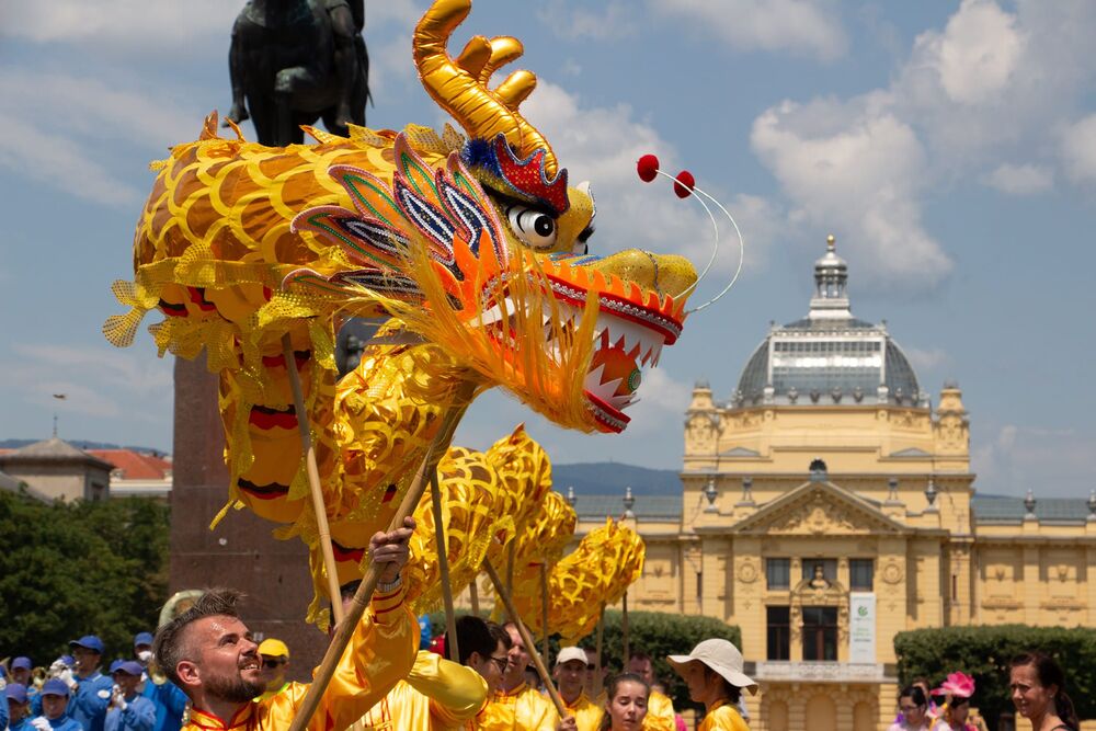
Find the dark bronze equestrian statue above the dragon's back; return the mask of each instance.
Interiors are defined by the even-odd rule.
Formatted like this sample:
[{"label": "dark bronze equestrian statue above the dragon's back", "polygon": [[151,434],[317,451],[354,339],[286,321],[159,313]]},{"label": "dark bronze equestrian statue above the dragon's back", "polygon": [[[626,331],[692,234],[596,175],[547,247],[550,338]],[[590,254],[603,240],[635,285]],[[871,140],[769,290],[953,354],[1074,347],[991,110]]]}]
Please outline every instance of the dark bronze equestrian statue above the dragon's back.
[{"label": "dark bronze equestrian statue above the dragon's back", "polygon": [[228,55],[232,122],[251,118],[259,141],[302,142],[323,119],[336,135],[365,125],[369,56],[364,0],[248,0]]}]

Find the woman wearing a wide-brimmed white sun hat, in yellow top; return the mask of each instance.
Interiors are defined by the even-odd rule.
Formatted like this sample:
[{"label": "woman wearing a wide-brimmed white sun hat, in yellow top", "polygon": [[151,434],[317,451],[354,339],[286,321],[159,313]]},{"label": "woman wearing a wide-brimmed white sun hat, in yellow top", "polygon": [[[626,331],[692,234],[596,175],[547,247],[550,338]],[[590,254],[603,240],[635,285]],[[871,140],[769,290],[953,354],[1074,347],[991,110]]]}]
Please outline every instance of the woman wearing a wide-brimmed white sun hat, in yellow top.
[{"label": "woman wearing a wide-brimmed white sun hat, in yellow top", "polygon": [[742,672],[742,653],[727,640],[705,640],[687,655],[666,658],[688,684],[689,697],[704,704],[697,731],[750,731],[738,704],[742,688],[756,695],[757,684]]}]

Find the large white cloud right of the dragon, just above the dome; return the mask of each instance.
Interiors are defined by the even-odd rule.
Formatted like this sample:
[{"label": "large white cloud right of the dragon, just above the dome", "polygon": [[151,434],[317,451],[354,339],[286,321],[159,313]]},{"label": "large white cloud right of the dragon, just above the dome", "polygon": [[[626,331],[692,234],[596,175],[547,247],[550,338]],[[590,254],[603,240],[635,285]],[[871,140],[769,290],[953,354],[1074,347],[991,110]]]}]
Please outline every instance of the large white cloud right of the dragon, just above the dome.
[{"label": "large white cloud right of the dragon, just above the dome", "polygon": [[922,225],[924,151],[876,101],[785,102],[754,121],[751,144],[798,207],[795,218],[846,233],[843,245],[875,287],[932,288],[952,262]]}]

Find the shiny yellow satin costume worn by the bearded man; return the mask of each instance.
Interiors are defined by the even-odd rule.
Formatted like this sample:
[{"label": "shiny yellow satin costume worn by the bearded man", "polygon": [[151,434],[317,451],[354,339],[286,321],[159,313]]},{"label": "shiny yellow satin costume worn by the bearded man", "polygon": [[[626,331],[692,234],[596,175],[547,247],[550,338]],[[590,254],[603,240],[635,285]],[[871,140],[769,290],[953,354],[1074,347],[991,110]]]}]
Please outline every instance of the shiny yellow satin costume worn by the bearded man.
[{"label": "shiny yellow satin costume worn by the bearded man", "polygon": [[[404,595],[402,585],[389,594],[374,594],[368,617],[351,637],[308,731],[344,731],[411,672],[419,623],[403,603]],[[308,687],[290,683],[266,700],[243,704],[227,721],[194,708],[182,731],[285,731]]]}]

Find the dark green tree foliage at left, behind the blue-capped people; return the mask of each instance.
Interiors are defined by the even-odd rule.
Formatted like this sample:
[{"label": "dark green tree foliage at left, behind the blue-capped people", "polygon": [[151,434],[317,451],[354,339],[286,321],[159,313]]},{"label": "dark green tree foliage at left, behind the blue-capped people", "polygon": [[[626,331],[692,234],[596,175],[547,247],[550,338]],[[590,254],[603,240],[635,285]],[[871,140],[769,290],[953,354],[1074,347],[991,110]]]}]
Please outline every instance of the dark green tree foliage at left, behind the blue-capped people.
[{"label": "dark green tree foliage at left, behind the blue-capped people", "polygon": [[48,665],[99,635],[128,658],[167,594],[168,506],[148,499],[42,503],[0,492],[0,648]]}]

